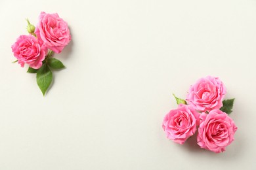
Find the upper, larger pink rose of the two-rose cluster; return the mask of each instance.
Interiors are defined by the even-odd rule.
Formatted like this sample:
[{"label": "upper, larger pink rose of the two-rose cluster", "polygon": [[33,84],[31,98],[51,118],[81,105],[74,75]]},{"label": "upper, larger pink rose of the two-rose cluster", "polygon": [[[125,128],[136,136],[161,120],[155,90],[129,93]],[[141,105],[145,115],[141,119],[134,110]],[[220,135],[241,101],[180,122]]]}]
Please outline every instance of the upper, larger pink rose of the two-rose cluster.
[{"label": "upper, larger pink rose of the two-rose cluster", "polygon": [[39,23],[35,27],[35,35],[43,41],[47,48],[56,53],[62,52],[71,39],[68,24],[57,13],[46,14],[41,12]]}]

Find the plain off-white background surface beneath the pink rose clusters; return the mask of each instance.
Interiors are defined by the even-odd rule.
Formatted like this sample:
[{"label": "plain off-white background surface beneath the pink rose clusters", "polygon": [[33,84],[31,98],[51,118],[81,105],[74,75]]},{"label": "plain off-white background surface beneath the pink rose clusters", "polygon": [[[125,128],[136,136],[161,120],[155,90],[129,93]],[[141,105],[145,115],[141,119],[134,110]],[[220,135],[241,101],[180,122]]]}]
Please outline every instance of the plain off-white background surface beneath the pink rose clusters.
[{"label": "plain off-white background surface beneath the pink rose clusters", "polygon": [[[45,97],[11,52],[41,11],[72,42]],[[256,1],[0,1],[0,169],[256,169]],[[226,152],[183,146],[163,116],[202,76],[219,76],[238,131]]]}]

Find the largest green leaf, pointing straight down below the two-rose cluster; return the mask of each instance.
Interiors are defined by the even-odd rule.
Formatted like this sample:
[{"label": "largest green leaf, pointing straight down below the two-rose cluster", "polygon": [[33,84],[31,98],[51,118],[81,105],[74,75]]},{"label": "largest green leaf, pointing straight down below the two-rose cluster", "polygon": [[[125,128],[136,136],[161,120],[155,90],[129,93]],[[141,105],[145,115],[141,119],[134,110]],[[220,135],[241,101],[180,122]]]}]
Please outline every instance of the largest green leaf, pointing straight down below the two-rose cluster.
[{"label": "largest green leaf, pointing straight down below the two-rose cluster", "polygon": [[37,71],[37,85],[39,86],[43,95],[45,95],[45,92],[49,88],[52,80],[53,73],[51,72],[51,69],[48,67],[47,63],[44,63]]}]

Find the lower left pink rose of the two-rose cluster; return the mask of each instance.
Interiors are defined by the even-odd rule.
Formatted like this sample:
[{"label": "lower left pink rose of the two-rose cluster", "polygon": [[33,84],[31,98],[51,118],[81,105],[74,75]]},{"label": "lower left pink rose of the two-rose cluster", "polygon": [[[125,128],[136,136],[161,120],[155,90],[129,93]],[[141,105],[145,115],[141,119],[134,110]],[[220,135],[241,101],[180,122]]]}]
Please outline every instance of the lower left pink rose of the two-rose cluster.
[{"label": "lower left pink rose of the two-rose cluster", "polygon": [[27,63],[33,69],[39,69],[47,54],[47,48],[32,35],[20,35],[12,45],[12,52],[21,67]]}]

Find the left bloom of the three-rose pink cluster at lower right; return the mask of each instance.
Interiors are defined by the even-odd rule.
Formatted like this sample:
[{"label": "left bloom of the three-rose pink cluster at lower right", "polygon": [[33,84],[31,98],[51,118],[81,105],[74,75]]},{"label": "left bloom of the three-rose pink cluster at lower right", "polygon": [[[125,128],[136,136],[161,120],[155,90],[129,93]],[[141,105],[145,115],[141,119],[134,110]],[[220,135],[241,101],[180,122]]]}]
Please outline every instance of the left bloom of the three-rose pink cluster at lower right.
[{"label": "left bloom of the three-rose pink cluster at lower right", "polygon": [[163,119],[162,125],[167,138],[183,144],[196,132],[199,116],[200,114],[188,105],[180,104],[177,109],[171,110]]}]

